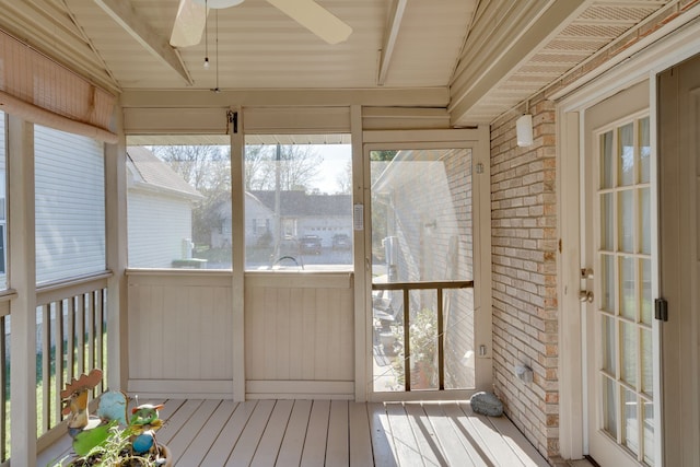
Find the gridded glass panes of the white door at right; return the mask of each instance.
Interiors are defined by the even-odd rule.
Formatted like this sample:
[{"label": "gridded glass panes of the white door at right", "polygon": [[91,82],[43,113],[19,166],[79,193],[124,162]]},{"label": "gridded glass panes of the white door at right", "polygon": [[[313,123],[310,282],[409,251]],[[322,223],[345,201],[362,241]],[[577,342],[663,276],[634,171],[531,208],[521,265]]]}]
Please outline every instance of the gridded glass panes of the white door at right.
[{"label": "gridded glass panes of the white door at right", "polygon": [[599,133],[598,144],[598,428],[654,465],[649,117]]}]

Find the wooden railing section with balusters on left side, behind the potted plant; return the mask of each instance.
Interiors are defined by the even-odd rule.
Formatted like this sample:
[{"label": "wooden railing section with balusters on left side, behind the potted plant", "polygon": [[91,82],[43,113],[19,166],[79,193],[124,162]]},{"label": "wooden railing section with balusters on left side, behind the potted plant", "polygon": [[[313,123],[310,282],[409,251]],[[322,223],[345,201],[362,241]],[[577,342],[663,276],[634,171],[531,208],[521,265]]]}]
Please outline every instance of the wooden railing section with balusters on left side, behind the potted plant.
[{"label": "wooden railing section with balusters on left side, behind the potted plant", "polygon": [[36,407],[38,435],[62,420],[67,382],[94,367],[107,374],[107,278],[110,273],[52,283],[37,290]]}]

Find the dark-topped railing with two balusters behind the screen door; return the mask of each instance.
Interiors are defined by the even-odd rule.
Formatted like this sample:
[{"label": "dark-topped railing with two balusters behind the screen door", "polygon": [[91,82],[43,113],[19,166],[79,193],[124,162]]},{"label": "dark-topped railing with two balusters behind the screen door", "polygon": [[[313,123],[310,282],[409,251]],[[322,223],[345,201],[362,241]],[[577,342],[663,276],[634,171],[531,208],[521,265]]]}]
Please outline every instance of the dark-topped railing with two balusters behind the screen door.
[{"label": "dark-topped railing with two balusters behind the screen door", "polygon": [[435,300],[435,320],[436,320],[436,360],[438,360],[438,387],[436,389],[445,389],[445,324],[444,324],[444,292],[453,289],[472,289],[474,281],[423,281],[423,282],[380,282],[373,283],[373,291],[400,291],[402,293],[402,355],[404,355],[404,390],[411,390],[411,292],[434,291]]}]

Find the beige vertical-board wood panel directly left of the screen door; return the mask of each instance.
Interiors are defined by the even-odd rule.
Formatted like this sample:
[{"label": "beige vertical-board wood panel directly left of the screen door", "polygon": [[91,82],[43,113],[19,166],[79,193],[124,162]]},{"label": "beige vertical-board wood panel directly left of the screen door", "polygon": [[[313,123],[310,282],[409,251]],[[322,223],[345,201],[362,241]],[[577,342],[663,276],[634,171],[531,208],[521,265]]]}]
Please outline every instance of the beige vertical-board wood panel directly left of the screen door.
[{"label": "beige vertical-board wood panel directly left of the screen door", "polygon": [[246,398],[354,398],[352,275],[246,273]]}]

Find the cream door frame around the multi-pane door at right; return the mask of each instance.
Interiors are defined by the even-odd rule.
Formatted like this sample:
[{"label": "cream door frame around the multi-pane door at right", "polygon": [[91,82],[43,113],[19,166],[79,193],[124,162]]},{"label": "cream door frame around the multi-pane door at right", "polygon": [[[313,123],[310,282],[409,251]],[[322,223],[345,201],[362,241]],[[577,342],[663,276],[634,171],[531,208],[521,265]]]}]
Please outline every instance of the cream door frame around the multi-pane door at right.
[{"label": "cream door frame around the multi-pane door at right", "polygon": [[[677,25],[676,25],[677,26]],[[673,31],[673,27],[669,26]],[[557,102],[557,191],[559,192],[559,232],[561,246],[558,261],[559,283],[559,377],[560,377],[560,453],[563,458],[581,458],[587,453],[583,357],[586,338],[582,328],[579,301],[581,258],[580,245],[583,177],[583,122],[587,108],[643,80],[650,81],[650,117],[652,160],[656,160],[656,74],[692,57],[700,50],[700,24],[688,24],[639,51],[629,60],[595,77],[584,77],[551,96]],[[576,91],[571,91],[571,90]],[[567,94],[569,93],[569,94]],[[655,167],[653,168],[655,171]],[[656,175],[652,174],[653,179]],[[564,183],[565,182],[565,183]],[[655,199],[654,199],[655,202]],[[657,207],[652,203],[652,209]],[[653,240],[654,243],[656,238]],[[653,291],[658,296],[658,291]],[[658,370],[658,369],[655,369]],[[661,399],[661,387],[655,388]],[[583,423],[581,422],[583,420]],[[660,436],[661,437],[661,436]],[[660,446],[661,448],[661,446]]]}]

